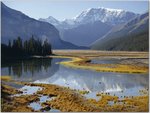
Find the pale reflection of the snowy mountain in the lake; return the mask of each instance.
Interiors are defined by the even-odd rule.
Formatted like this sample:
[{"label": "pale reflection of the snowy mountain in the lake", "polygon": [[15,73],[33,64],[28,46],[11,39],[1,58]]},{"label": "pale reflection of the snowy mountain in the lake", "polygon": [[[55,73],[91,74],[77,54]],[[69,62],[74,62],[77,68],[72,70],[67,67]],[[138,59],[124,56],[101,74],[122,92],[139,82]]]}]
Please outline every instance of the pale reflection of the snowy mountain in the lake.
[{"label": "pale reflection of the snowy mountain in the lake", "polygon": [[148,86],[148,75],[101,73],[60,66],[59,70],[53,76],[35,82],[58,84],[91,92],[111,92],[135,87],[144,88]]}]

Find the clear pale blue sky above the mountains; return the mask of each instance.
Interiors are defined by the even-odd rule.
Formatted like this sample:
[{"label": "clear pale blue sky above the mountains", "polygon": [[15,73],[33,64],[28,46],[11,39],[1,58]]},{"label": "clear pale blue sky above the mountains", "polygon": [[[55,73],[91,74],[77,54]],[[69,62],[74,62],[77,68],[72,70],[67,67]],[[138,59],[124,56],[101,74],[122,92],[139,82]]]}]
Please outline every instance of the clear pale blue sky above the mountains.
[{"label": "clear pale blue sky above the mountains", "polygon": [[113,8],[142,14],[148,11],[148,1],[100,1],[100,0],[2,0],[10,8],[35,18],[53,16],[62,21],[80,14],[88,8]]}]

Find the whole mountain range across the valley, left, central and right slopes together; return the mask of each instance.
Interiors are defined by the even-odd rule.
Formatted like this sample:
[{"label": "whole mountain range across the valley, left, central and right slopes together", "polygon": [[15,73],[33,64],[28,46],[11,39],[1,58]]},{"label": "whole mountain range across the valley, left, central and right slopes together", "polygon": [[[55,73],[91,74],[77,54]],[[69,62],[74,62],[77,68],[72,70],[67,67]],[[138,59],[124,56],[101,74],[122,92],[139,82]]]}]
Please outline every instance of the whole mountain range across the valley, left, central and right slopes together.
[{"label": "whole mountain range across the valley, left, central and right slopes together", "polygon": [[52,16],[33,19],[1,2],[1,42],[32,35],[52,44],[53,49],[148,50],[148,12],[89,8],[72,19]]}]

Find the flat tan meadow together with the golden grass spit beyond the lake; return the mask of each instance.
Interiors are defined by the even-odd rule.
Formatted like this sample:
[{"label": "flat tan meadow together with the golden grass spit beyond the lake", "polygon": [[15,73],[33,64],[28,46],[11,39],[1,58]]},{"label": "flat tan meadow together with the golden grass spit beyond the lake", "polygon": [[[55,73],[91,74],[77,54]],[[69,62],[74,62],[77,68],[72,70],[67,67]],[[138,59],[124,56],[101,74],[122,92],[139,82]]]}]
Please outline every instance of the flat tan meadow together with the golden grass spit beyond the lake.
[{"label": "flat tan meadow together with the golden grass spit beyond the lake", "polygon": [[[71,61],[60,62],[60,64],[72,68],[94,70],[100,72],[119,72],[119,73],[148,73],[148,66],[132,62],[131,59],[147,59],[147,52],[108,52],[108,51],[54,51],[58,58],[70,58]],[[90,60],[99,58],[106,59],[127,59],[126,62],[118,64],[93,64]],[[128,60],[130,59],[130,60]],[[143,63],[143,62],[141,62]]]}]

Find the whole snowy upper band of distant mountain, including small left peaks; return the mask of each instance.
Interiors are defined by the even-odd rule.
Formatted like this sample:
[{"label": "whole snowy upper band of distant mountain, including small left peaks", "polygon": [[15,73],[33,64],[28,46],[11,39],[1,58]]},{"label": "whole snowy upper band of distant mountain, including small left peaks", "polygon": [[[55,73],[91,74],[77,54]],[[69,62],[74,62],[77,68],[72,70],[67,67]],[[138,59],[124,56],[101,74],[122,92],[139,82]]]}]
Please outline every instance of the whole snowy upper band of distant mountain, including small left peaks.
[{"label": "whole snowy upper band of distant mountain, including small left peaks", "polygon": [[65,19],[64,21],[58,21],[53,17],[48,17],[46,19],[39,19],[40,21],[49,22],[55,25],[57,28],[73,28],[81,24],[94,23],[96,21],[101,21],[109,25],[124,24],[130,19],[136,17],[138,14],[133,12],[121,10],[121,9],[110,9],[110,8],[89,8],[82,11],[79,15],[72,19]]}]

